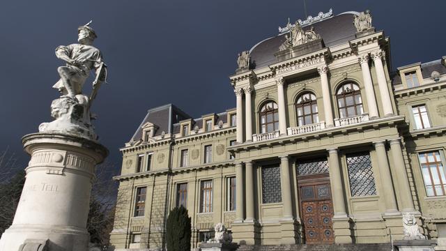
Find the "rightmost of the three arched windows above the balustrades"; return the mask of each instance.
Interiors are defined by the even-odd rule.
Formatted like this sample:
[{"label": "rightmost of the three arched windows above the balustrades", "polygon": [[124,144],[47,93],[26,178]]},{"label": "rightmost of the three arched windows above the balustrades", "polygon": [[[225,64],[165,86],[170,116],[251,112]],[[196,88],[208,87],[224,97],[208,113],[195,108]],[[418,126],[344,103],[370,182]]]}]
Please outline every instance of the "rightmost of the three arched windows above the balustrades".
[{"label": "rightmost of the three arched windows above the balustrades", "polygon": [[353,82],[343,84],[336,93],[339,117],[348,118],[364,113],[360,88]]}]

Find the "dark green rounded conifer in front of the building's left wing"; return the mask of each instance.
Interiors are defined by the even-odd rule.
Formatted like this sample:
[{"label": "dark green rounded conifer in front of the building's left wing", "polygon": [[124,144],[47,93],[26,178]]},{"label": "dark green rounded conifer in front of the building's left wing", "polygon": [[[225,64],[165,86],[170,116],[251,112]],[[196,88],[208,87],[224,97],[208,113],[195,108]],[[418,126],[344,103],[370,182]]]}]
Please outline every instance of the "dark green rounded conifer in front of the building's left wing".
[{"label": "dark green rounded conifer in front of the building's left wing", "polygon": [[190,251],[191,224],[183,206],[170,211],[166,226],[166,244],[169,251]]}]

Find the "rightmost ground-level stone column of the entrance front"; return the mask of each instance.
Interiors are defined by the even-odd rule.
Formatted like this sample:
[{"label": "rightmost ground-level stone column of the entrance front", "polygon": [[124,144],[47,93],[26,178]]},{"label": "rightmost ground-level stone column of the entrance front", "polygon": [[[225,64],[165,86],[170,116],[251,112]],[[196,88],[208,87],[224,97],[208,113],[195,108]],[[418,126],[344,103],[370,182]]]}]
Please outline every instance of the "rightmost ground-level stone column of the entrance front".
[{"label": "rightmost ground-level stone column of the entrance front", "polygon": [[415,211],[400,139],[390,140],[390,151],[392,151],[395,175],[398,177],[397,184],[401,197],[401,211]]}]

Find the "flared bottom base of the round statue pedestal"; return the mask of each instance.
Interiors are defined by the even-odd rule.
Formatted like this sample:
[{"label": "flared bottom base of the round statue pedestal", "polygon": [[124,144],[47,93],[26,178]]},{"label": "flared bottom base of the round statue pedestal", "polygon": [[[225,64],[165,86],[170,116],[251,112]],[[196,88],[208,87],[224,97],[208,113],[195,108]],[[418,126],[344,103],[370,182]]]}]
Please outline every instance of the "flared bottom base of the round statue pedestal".
[{"label": "flared bottom base of the round statue pedestal", "polygon": [[47,241],[45,247],[52,251],[88,250],[89,232],[86,229],[51,225],[12,225],[1,236],[0,250],[19,250],[29,241]]}]

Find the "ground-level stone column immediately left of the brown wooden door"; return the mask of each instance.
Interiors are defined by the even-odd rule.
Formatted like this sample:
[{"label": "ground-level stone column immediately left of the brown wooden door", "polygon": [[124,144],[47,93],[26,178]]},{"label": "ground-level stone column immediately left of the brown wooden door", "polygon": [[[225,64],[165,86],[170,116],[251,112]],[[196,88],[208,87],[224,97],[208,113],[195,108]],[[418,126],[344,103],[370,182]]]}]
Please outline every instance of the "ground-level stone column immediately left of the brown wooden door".
[{"label": "ground-level stone column immediately left of the brown wooden door", "polygon": [[290,165],[288,155],[280,157],[280,179],[282,181],[282,203],[284,204],[284,220],[293,220]]}]

